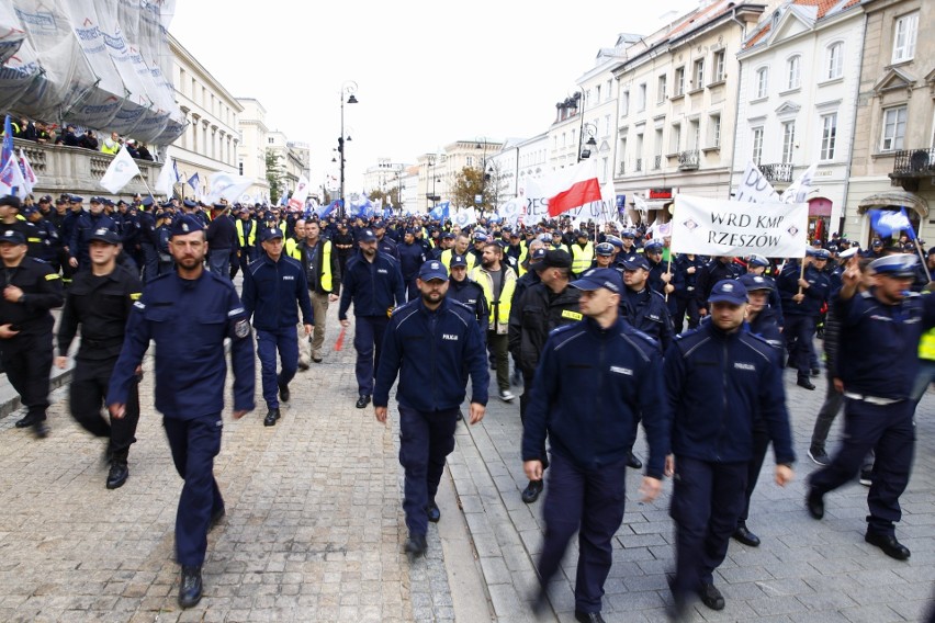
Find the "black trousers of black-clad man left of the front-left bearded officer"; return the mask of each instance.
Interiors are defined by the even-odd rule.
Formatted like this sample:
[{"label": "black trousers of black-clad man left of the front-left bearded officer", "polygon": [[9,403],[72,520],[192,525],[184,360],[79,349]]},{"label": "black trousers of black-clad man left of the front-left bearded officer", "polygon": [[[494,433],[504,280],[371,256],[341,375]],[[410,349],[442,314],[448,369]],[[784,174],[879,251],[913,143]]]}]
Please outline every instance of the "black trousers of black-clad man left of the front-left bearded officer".
[{"label": "black trousers of black-clad man left of the front-left bearded officer", "polygon": [[108,385],[115,363],[116,359],[77,360],[68,388],[69,403],[75,420],[91,434],[109,438],[108,453],[126,461],[131,444],[136,442],[139,392],[137,383],[131,385],[123,418],[111,420],[102,412],[101,407],[108,397]]}]

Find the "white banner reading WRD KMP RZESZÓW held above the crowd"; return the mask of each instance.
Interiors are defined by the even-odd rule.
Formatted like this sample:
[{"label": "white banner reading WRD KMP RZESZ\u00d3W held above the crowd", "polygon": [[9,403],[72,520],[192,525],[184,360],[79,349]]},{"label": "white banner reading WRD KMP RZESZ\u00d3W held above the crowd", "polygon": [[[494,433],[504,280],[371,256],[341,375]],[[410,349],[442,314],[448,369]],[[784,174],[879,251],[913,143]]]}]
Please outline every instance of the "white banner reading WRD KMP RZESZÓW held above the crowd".
[{"label": "white banner reading WRD KMP RZESZ\u00d3W held above the crowd", "polygon": [[801,258],[808,245],[809,204],[758,203],[677,195],[672,249],[699,256]]}]

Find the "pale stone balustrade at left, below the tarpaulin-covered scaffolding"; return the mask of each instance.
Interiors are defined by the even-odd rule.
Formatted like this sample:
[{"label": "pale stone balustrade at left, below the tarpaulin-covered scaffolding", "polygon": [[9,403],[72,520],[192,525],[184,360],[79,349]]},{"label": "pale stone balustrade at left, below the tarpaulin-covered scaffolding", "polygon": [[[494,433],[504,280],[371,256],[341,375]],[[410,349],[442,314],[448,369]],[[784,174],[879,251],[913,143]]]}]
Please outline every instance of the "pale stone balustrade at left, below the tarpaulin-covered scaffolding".
[{"label": "pale stone balustrade at left, below the tarpaulin-covered scaffolding", "polygon": [[[37,178],[33,195],[74,193],[80,195],[110,195],[101,188],[101,178],[110,167],[113,156],[92,151],[81,147],[66,147],[64,145],[47,145],[33,140],[13,139],[15,152],[20,148],[30,159],[33,171]],[[160,162],[148,160],[135,160],[139,167],[140,175],[135,177],[119,193],[123,196],[139,193],[148,195],[147,184],[151,189],[159,178]]]}]

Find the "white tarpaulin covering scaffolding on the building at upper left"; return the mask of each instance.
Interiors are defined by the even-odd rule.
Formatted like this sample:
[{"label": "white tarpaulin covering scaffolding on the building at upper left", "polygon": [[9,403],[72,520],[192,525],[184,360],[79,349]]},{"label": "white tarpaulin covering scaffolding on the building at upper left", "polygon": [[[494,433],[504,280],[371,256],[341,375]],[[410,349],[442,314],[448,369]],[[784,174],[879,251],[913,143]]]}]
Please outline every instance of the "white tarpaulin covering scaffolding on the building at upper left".
[{"label": "white tarpaulin covering scaffolding on the building at upper left", "polygon": [[[184,131],[165,0],[12,0],[25,33],[0,67],[0,110],[166,145]],[[169,3],[174,12],[174,3]],[[0,26],[9,15],[0,10]],[[0,37],[0,58],[5,39]]]}]

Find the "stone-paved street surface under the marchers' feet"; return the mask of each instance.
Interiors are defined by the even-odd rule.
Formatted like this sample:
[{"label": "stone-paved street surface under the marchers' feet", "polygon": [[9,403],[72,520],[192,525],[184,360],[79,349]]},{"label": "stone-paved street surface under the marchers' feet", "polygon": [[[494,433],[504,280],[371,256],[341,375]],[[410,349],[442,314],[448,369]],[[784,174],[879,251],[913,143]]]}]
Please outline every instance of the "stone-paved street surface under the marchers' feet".
[{"label": "stone-paved street surface under the marchers' feet", "polygon": [[[333,305],[329,347],[335,312]],[[172,560],[181,480],[153,409],[151,374],[131,479],[115,491],[103,486],[102,441],[68,416],[67,389],[54,395],[46,440],[12,428],[18,415],[0,420],[0,621],[532,621],[541,502],[519,499],[518,404],[494,399],[482,423],[459,426],[439,495],[441,523],[429,529],[428,557],[410,563],[401,553],[398,417],[391,408],[382,427],[372,409],[353,408],[352,333],[342,352],[300,373],[277,427],[261,423],[259,383],[257,411],[225,420],[215,473],[227,517],[210,536],[205,598],[189,611],[176,603]],[[793,383],[787,375],[797,480],[775,486],[767,458],[750,520],[764,543],[731,544],[716,579],[728,608],[699,605],[695,620],[922,620],[935,578],[935,398],[919,409],[898,526],[912,558],[900,563],[863,541],[864,487],[831,494],[824,521],[808,517],[803,483],[814,465],[806,451],[823,393]],[[838,437],[835,426],[832,448]],[[645,456],[642,439],[637,450]],[[639,480],[631,471],[606,587],[611,622],[663,621],[671,601],[671,483],[645,505],[637,499]],[[575,555],[573,545],[543,621],[573,620]]]}]

